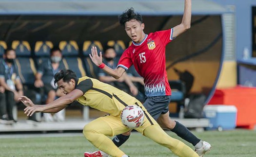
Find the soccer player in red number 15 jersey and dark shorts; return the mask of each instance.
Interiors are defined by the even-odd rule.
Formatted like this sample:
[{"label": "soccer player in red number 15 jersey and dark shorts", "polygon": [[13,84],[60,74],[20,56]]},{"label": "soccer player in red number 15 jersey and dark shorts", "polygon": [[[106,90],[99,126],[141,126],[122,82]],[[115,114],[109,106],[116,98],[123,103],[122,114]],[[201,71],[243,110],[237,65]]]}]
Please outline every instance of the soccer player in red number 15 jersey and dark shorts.
[{"label": "soccer player in red number 15 jersey and dark shorts", "polygon": [[[118,18],[120,24],[125,27],[127,35],[132,39],[132,45],[123,52],[115,70],[102,63],[102,54],[100,52],[98,55],[96,47],[91,50],[92,61],[116,79],[134,65],[137,72],[144,78],[147,97],[143,105],[150,115],[157,120],[160,126],[170,129],[182,139],[192,143],[197,154],[202,157],[211,149],[211,145],[198,139],[184,125],[169,117],[168,105],[171,101],[171,88],[165,70],[166,45],[190,28],[191,0],[185,0],[181,23],[169,30],[145,34],[142,17],[133,8],[126,10]],[[117,135],[113,142],[120,146],[129,138],[129,135],[129,133]]]}]

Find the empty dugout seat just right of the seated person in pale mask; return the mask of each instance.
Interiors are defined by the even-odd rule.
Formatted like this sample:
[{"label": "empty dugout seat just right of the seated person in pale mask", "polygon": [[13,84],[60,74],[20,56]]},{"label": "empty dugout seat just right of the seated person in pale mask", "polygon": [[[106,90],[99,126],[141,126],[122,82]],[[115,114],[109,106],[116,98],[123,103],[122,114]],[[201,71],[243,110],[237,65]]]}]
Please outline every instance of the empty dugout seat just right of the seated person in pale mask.
[{"label": "empty dugout seat just right of the seated person in pale mask", "polygon": [[76,41],[60,41],[59,49],[62,51],[62,62],[66,69],[76,72],[77,77],[86,76],[82,60],[79,57],[79,47]]}]

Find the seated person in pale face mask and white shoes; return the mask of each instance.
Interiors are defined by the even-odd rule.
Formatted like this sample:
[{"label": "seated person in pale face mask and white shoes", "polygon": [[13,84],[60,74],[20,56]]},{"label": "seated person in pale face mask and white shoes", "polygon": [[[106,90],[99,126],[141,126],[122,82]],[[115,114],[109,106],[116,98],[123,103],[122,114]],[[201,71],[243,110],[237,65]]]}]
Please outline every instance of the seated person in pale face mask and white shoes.
[{"label": "seated person in pale face mask and white shoes", "polygon": [[[45,104],[53,102],[57,96],[61,96],[61,92],[58,91],[54,85],[54,75],[60,70],[64,70],[63,64],[60,64],[62,59],[62,53],[59,48],[54,47],[51,49],[50,58],[39,65],[38,72],[35,79],[35,87],[42,87],[43,95],[47,95]],[[57,121],[64,121],[64,112],[58,112],[55,114]],[[54,118],[50,113],[43,113],[44,121],[51,122]]]}]

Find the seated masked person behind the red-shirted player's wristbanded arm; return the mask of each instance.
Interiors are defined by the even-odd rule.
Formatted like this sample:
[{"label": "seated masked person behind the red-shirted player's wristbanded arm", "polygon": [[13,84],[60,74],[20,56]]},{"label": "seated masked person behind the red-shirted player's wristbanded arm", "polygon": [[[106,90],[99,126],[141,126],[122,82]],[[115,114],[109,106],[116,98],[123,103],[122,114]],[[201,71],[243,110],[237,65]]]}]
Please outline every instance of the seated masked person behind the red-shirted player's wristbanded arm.
[{"label": "seated masked person behind the red-shirted player's wristbanded arm", "polygon": [[[114,47],[106,46],[104,48],[104,53],[103,53],[103,58],[104,58],[103,63],[113,69],[116,69],[118,65],[118,59],[116,59],[116,56],[117,56],[117,53]],[[126,73],[124,76],[116,80],[114,77],[110,76],[103,70],[100,70],[98,73],[98,79],[99,81],[115,86],[118,89],[121,89],[129,94],[132,94],[134,96],[138,95],[138,88],[134,86],[130,77],[128,77]],[[130,90],[128,89],[128,87],[130,88]]]}]

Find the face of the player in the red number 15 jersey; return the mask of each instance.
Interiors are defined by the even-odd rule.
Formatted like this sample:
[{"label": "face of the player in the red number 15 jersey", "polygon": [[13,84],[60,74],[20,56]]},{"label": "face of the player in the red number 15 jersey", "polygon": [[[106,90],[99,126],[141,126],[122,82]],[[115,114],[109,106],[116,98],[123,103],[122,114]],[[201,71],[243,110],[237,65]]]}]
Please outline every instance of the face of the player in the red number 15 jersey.
[{"label": "face of the player in the red number 15 jersey", "polygon": [[130,21],[125,22],[125,31],[127,35],[136,43],[140,43],[145,34],[143,32],[144,23],[140,23],[136,19],[131,19]]}]

